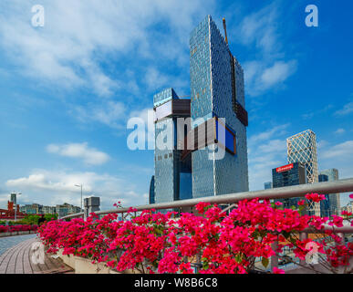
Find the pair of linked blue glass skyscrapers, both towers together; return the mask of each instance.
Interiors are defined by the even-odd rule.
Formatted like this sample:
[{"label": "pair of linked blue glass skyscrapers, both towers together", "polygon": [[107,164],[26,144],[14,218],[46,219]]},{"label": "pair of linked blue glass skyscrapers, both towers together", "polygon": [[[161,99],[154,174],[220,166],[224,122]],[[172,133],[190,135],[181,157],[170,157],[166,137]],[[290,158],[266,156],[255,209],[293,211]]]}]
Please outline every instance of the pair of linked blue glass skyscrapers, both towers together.
[{"label": "pair of linked blue glass skyscrapers, both towers together", "polygon": [[190,38],[190,99],[154,96],[155,175],[150,203],[247,192],[244,71],[206,16]]}]

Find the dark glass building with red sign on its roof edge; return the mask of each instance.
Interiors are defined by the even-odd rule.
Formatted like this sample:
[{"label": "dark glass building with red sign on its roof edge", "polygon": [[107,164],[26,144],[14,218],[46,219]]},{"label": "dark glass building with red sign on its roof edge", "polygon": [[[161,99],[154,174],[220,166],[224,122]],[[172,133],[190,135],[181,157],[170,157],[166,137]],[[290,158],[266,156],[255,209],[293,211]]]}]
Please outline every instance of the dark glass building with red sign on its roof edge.
[{"label": "dark glass building with red sign on its roof edge", "polygon": [[[295,162],[272,170],[272,183],[274,188],[282,188],[297,184],[306,183],[306,165],[304,163]],[[284,204],[285,208],[297,206],[300,198],[279,199],[278,202]]]}]

